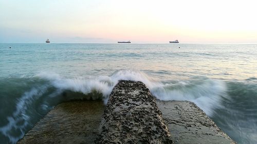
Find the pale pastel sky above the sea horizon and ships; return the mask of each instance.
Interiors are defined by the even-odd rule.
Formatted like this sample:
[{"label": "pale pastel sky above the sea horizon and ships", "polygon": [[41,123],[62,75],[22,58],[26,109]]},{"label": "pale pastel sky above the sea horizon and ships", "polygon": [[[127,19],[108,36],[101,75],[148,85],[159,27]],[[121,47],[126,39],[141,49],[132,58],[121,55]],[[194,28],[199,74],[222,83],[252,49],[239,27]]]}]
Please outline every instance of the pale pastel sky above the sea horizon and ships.
[{"label": "pale pastel sky above the sea horizon and ships", "polygon": [[0,0],[0,43],[257,43],[257,1]]}]

